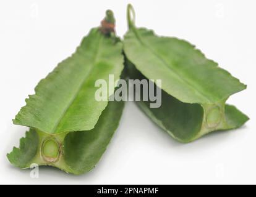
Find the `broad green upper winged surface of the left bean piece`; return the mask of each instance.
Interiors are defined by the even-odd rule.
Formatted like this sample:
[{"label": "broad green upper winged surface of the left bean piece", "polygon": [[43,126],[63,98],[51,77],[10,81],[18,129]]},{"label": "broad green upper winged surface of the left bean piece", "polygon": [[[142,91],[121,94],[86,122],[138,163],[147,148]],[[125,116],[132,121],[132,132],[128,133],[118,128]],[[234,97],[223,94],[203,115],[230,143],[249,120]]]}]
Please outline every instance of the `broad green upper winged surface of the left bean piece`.
[{"label": "broad green upper winged surface of the left bean piece", "polygon": [[48,134],[93,129],[108,103],[95,100],[95,81],[108,82],[109,74],[117,80],[123,69],[122,44],[115,40],[92,29],[76,52],[39,82],[14,124]]}]

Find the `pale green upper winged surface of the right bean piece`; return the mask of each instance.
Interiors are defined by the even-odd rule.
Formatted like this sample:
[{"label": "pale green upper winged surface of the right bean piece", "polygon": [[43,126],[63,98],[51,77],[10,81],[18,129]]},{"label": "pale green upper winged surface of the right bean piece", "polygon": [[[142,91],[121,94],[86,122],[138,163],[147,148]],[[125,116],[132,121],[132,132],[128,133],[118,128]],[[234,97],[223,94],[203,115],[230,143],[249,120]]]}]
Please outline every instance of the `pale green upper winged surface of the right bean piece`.
[{"label": "pale green upper winged surface of the right bean piece", "polygon": [[218,103],[246,87],[189,42],[145,28],[130,28],[124,52],[144,76],[162,79],[162,89],[182,102]]}]

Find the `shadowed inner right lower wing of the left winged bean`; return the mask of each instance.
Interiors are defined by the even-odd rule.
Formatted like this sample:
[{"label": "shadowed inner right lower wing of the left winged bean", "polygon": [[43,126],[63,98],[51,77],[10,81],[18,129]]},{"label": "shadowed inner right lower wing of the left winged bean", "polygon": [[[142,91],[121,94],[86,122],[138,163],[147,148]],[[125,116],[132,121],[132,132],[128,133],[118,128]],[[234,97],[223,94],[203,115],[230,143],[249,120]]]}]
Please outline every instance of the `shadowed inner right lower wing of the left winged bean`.
[{"label": "shadowed inner right lower wing of the left winged bean", "polygon": [[80,174],[90,171],[101,158],[117,129],[124,102],[109,102],[92,131],[72,132],[64,140],[65,161]]}]

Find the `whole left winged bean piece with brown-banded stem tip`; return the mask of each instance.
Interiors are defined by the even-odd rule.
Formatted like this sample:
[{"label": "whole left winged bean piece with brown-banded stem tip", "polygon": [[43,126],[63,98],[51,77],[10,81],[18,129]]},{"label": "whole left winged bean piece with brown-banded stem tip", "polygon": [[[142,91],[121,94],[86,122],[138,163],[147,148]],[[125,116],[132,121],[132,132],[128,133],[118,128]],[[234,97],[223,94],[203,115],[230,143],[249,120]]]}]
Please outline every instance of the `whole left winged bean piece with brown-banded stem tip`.
[{"label": "whole left winged bean piece with brown-banded stem tip", "polygon": [[[97,101],[98,79],[121,77],[122,43],[111,10],[100,28],[83,38],[76,52],[42,79],[14,119],[30,127],[20,148],[7,154],[14,166],[54,166],[73,174],[90,171],[103,155],[121,118],[124,102]],[[111,81],[109,81],[111,80]],[[109,87],[108,97],[114,94]]]}]

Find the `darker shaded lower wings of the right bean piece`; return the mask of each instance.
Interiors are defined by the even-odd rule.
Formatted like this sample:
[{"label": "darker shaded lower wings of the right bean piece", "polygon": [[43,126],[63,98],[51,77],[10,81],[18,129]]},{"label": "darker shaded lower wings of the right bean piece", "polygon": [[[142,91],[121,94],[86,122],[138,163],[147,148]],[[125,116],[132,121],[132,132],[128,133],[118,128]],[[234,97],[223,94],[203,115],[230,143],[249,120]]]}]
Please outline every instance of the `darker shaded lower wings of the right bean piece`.
[{"label": "darker shaded lower wings of the right bean piece", "polygon": [[[126,65],[129,68],[130,79],[147,79],[132,63],[126,61]],[[140,94],[142,97],[143,92],[140,91]],[[161,91],[160,108],[150,108],[150,101],[138,101],[136,103],[154,123],[168,132],[174,139],[183,143],[191,142],[211,131],[235,129],[242,126],[249,119],[234,106],[224,105],[223,103],[221,107],[224,109],[221,110],[224,111],[224,115],[217,116],[217,118],[220,118],[218,124],[209,127],[207,123],[207,114],[209,113],[205,111],[209,107],[197,103],[181,102],[164,90]],[[210,105],[210,108],[212,106],[215,105]],[[215,114],[212,113],[212,115]],[[213,119],[215,120],[215,118]]]}]

